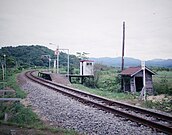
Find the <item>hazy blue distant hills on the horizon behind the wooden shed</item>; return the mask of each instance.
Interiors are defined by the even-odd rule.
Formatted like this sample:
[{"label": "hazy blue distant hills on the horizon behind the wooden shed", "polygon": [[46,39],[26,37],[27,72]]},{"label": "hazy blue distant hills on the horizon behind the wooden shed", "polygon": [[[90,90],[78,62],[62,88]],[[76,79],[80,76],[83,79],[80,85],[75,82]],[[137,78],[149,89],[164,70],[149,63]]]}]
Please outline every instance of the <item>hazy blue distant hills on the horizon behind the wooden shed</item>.
[{"label": "hazy blue distant hills on the horizon behind the wooden shed", "polygon": [[[117,57],[117,58],[101,57],[101,58],[90,58],[90,59],[94,60],[96,63],[105,64],[107,66],[121,67],[121,57]],[[125,61],[124,62],[125,67],[141,65],[141,60],[139,60],[139,59],[125,57],[124,61]],[[170,67],[170,68],[172,68],[172,59],[148,60],[148,61],[146,61],[146,66]]]}]

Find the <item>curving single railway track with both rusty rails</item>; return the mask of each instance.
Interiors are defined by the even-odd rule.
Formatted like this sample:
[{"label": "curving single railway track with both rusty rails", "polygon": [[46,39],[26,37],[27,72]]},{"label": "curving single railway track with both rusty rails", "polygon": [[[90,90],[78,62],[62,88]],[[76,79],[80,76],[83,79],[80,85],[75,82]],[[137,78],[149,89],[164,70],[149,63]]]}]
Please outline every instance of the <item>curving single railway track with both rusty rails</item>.
[{"label": "curving single railway track with both rusty rails", "polygon": [[149,126],[168,134],[172,133],[172,117],[170,116],[57,84],[52,81],[34,76],[34,72],[35,71],[28,71],[25,73],[25,75],[34,82],[37,82],[55,91],[61,92],[84,104],[97,107],[101,110],[125,117],[137,123]]}]

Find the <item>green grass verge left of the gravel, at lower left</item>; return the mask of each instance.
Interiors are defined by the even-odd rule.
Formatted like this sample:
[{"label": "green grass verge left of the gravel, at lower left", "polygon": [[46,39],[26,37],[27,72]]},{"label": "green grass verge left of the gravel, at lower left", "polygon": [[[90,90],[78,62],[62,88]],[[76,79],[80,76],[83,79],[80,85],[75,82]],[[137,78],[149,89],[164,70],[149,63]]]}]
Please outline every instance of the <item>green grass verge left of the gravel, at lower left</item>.
[{"label": "green grass verge left of the gravel, at lower left", "polygon": [[[6,80],[6,87],[12,88],[16,91],[15,94],[8,94],[5,97],[25,98],[27,95],[20,89],[16,82],[17,72],[10,72]],[[2,95],[1,95],[2,97]],[[4,122],[5,113],[8,114],[8,120]],[[61,128],[52,128],[45,125],[39,117],[32,111],[31,108],[25,107],[20,102],[0,102],[0,126],[15,126],[23,128],[33,128],[34,130],[46,130],[53,133],[71,134],[75,135],[76,132]]]}]

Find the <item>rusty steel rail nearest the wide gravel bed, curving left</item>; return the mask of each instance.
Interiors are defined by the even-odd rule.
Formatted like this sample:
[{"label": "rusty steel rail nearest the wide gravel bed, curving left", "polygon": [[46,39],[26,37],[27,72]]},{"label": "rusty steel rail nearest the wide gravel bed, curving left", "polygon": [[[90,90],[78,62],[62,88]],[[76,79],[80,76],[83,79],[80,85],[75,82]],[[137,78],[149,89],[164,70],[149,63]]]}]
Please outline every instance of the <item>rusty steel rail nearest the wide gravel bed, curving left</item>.
[{"label": "rusty steel rail nearest the wide gravel bed, curving left", "polygon": [[[32,75],[33,72],[34,72],[34,71],[31,71],[31,72],[28,71],[28,72],[26,72],[25,75],[26,75],[29,79],[31,79],[32,81],[35,81],[35,82],[37,82],[37,83],[39,83],[39,84],[41,84],[41,85],[44,85],[44,86],[46,86],[46,87],[48,87],[48,88],[50,88],[50,89],[53,89],[53,90],[58,91],[58,92],[61,92],[61,93],[65,94],[65,95],[70,96],[70,97],[72,97],[72,98],[74,98],[74,99],[77,99],[77,100],[79,100],[80,102],[83,102],[83,103],[85,103],[85,104],[94,105],[94,106],[97,107],[97,108],[100,108],[100,109],[105,110],[105,111],[107,111],[107,112],[113,113],[113,114],[115,114],[115,115],[116,115],[116,114],[117,114],[117,115],[120,115],[120,116],[125,117],[125,118],[128,118],[128,119],[130,119],[130,120],[132,120],[132,121],[141,123],[141,124],[143,124],[143,125],[147,125],[147,126],[149,126],[149,127],[155,128],[155,129],[157,129],[157,130],[163,131],[163,132],[168,133],[168,134],[171,134],[171,133],[172,133],[172,127],[170,127],[170,126],[166,126],[166,125],[163,125],[163,124],[160,124],[160,123],[151,121],[151,120],[147,120],[147,119],[145,119],[145,118],[141,118],[141,117],[138,117],[138,116],[135,116],[135,115],[132,115],[132,114],[129,114],[129,113],[126,113],[126,112],[123,112],[123,111],[114,109],[114,108],[112,108],[112,107],[110,107],[110,106],[102,105],[102,104],[97,103],[97,102],[94,102],[94,101],[92,101],[92,100],[88,100],[88,99],[82,98],[82,97],[80,97],[80,96],[78,96],[78,95],[75,95],[75,94],[73,94],[73,93],[69,93],[69,92],[66,92],[66,91],[57,89],[56,87],[47,85],[47,84],[45,84],[45,83],[48,83],[48,84],[49,84],[49,81],[47,81],[47,80],[45,81],[45,79],[42,79],[42,78],[40,79],[39,77],[33,76],[33,75]],[[44,83],[43,83],[43,82],[44,82]],[[61,85],[61,86],[62,86],[62,85]],[[60,86],[58,85],[58,87],[60,87]],[[65,87],[65,86],[63,86],[63,88],[68,89],[68,87]],[[73,88],[70,88],[70,90],[71,90],[71,89],[73,89]],[[85,93],[85,92],[84,92],[84,93]],[[93,94],[91,94],[91,95],[93,95]],[[90,96],[90,95],[89,95],[89,96]],[[96,96],[96,97],[97,97],[97,96]],[[99,97],[99,96],[98,96],[98,97]],[[103,99],[104,99],[104,98],[103,98]],[[111,100],[110,100],[110,101],[111,101]],[[112,102],[112,101],[111,101],[111,102]],[[114,101],[113,101],[113,102],[114,102]],[[125,105],[126,105],[126,104],[125,104]],[[171,118],[171,117],[170,117],[170,118]]]}]

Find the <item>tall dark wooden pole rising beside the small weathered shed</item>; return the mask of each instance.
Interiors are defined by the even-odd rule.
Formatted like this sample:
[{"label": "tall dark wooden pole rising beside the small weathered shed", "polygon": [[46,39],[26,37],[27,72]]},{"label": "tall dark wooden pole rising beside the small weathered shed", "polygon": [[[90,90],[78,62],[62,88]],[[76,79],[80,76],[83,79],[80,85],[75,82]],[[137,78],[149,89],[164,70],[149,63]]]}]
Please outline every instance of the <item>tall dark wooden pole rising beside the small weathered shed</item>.
[{"label": "tall dark wooden pole rising beside the small weathered shed", "polygon": [[[123,22],[122,65],[121,65],[121,71],[124,70],[124,47],[125,47],[125,22]],[[123,90],[123,79],[122,78],[121,78],[121,90]]]}]

